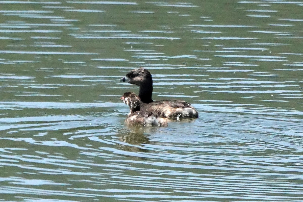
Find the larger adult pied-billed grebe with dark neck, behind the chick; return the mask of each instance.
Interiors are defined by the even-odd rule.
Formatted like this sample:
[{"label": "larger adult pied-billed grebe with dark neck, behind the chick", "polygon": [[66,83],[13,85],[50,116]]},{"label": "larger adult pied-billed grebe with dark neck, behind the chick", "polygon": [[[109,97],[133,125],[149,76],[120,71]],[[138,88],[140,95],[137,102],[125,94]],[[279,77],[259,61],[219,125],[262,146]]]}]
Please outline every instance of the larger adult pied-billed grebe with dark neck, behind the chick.
[{"label": "larger adult pied-billed grebe with dark neck, behind the chick", "polygon": [[121,79],[123,82],[139,86],[139,98],[144,105],[147,114],[154,113],[163,118],[198,118],[197,110],[188,102],[181,100],[161,100],[153,101],[152,96],[152,77],[151,73],[145,68],[134,69],[127,73],[126,78]]}]

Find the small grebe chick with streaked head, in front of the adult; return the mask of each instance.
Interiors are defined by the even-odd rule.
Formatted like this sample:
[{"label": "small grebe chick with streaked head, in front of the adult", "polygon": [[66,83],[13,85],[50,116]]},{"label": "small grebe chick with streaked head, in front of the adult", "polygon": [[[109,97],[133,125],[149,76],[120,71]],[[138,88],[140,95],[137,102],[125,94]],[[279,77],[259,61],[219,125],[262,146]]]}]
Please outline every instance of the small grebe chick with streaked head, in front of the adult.
[{"label": "small grebe chick with streaked head, in front of the adult", "polygon": [[135,93],[126,92],[120,99],[127,104],[130,109],[129,114],[125,119],[125,124],[140,126],[167,126],[166,119],[155,117],[152,113],[142,113],[140,110],[142,102]]}]

